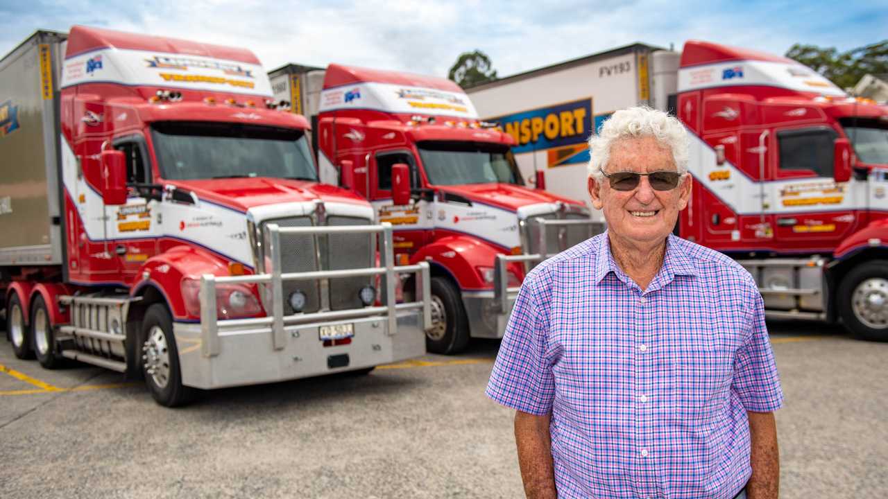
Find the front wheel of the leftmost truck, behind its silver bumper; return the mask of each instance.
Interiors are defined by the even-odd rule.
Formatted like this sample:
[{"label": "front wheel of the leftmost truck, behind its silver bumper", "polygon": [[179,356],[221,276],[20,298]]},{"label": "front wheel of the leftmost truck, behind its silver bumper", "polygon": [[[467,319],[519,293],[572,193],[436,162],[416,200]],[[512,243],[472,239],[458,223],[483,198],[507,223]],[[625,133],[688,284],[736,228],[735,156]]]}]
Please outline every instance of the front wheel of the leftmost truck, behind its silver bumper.
[{"label": "front wheel of the leftmost truck, behind its silver bumper", "polygon": [[145,384],[158,404],[168,408],[184,405],[194,398],[194,389],[182,384],[178,368],[176,337],[172,318],[163,304],[148,307],[142,320],[142,365]]}]

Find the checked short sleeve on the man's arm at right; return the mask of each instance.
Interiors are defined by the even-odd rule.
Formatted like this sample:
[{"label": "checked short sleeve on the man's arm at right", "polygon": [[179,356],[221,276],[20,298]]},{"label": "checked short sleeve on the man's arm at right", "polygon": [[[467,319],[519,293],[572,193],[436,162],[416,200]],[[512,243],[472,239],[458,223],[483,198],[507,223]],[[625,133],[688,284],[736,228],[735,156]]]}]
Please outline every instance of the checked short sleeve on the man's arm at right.
[{"label": "checked short sleeve on the man's arm at right", "polygon": [[783,405],[783,392],[765,325],[765,305],[754,283],[751,287],[745,300],[749,335],[734,356],[731,389],[746,410],[772,412]]}]

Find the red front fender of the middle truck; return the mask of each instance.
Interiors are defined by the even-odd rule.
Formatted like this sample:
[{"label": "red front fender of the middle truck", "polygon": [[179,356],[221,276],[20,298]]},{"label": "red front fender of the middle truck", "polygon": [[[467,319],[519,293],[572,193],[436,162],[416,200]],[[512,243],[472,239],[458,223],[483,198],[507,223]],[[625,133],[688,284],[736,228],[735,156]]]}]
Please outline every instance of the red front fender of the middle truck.
[{"label": "red front fender of the middle truck", "polygon": [[501,254],[502,249],[487,242],[469,236],[452,235],[426,244],[416,251],[411,263],[428,261],[432,266],[443,268],[453,276],[460,289],[490,289],[492,285],[484,282],[477,267],[493,267],[496,255]]}]

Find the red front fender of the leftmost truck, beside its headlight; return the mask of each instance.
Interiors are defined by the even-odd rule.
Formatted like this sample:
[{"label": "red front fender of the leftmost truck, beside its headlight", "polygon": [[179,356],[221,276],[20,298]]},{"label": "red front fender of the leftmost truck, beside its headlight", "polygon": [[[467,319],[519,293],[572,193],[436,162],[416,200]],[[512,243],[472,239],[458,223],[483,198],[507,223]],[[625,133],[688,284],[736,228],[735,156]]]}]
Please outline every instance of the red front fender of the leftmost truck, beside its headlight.
[{"label": "red front fender of the leftmost truck, beside its headlight", "polygon": [[224,258],[192,246],[176,246],[160,255],[148,258],[139,269],[139,281],[132,287],[132,297],[145,296],[150,288],[156,289],[170,307],[173,319],[199,319],[187,313],[181,285],[185,278],[200,280],[204,273],[229,275]]}]

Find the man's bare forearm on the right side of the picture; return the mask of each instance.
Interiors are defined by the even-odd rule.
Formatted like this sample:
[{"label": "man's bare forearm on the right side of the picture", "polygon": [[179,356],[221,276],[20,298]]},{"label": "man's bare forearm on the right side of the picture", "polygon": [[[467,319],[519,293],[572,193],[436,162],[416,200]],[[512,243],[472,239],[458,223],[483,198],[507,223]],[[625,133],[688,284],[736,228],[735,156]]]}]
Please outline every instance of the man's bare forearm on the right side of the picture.
[{"label": "man's bare forearm on the right side of the picture", "polygon": [[[749,462],[752,464],[752,477],[746,486],[746,496],[749,499],[777,499],[780,487],[780,453],[777,449],[774,413],[748,411],[746,414],[749,417],[751,440]],[[517,419],[515,428],[517,431]],[[521,471],[523,473],[523,466]]]}]

